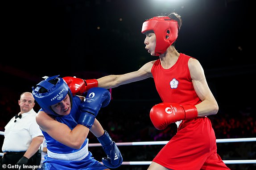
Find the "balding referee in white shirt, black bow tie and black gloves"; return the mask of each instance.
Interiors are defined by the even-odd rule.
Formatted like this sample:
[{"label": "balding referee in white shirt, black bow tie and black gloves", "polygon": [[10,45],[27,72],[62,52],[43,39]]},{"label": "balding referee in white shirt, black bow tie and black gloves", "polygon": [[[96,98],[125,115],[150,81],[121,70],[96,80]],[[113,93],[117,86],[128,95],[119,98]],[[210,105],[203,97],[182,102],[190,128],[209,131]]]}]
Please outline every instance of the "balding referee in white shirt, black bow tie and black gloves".
[{"label": "balding referee in white shirt, black bow tie and black gloves", "polygon": [[20,113],[4,127],[4,155],[0,158],[0,170],[37,170],[44,136],[36,123],[37,113],[33,110],[35,100],[32,93],[22,93],[18,103]]}]

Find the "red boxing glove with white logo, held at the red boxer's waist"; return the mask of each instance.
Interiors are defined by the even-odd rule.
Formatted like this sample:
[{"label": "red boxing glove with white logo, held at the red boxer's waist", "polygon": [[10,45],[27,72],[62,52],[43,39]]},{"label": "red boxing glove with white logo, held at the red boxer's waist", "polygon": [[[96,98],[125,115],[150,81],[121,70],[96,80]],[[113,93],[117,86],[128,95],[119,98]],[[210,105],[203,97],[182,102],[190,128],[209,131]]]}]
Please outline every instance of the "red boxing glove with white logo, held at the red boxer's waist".
[{"label": "red boxing glove with white logo, held at the red boxer's waist", "polygon": [[169,124],[180,120],[197,118],[194,105],[181,106],[177,103],[159,103],[150,110],[150,119],[158,130],[164,130]]}]

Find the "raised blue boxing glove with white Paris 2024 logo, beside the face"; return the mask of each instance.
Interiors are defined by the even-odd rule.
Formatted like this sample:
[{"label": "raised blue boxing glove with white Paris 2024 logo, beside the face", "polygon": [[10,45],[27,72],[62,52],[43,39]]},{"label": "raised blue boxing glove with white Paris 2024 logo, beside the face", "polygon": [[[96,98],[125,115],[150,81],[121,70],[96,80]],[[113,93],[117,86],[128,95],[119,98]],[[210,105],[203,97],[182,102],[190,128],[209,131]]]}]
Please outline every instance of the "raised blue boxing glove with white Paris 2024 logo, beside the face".
[{"label": "raised blue boxing glove with white Paris 2024 logo, beside the face", "polygon": [[101,87],[93,87],[87,91],[84,101],[80,104],[81,115],[78,124],[82,124],[91,129],[95,117],[101,107],[106,107],[111,100],[110,92]]}]

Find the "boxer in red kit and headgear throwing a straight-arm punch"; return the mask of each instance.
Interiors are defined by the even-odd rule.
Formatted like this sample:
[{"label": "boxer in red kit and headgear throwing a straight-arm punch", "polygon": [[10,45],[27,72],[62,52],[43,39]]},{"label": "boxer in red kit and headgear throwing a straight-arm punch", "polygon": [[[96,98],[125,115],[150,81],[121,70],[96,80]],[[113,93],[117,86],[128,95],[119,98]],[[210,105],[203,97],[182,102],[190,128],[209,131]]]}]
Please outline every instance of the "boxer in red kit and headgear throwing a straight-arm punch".
[{"label": "boxer in red kit and headgear throwing a straight-arm punch", "polygon": [[152,77],[163,103],[152,107],[150,119],[158,130],[176,123],[178,132],[156,155],[148,170],[230,170],[217,154],[215,132],[206,117],[217,114],[219,107],[203,68],[197,59],[175,49],[181,25],[181,16],[174,12],[143,23],[145,49],[159,59],[137,71],[85,81],[63,79],[73,94],[81,94],[91,87],[113,88]]}]

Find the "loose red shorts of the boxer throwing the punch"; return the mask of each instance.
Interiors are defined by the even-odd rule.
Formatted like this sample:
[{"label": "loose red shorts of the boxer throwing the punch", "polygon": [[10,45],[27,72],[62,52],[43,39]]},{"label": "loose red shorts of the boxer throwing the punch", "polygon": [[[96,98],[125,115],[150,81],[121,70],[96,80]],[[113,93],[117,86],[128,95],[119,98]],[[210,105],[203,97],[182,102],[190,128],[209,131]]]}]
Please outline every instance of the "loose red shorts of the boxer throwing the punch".
[{"label": "loose red shorts of the boxer throwing the punch", "polygon": [[230,170],[217,154],[210,119],[183,120],[153,162],[172,170]]}]

